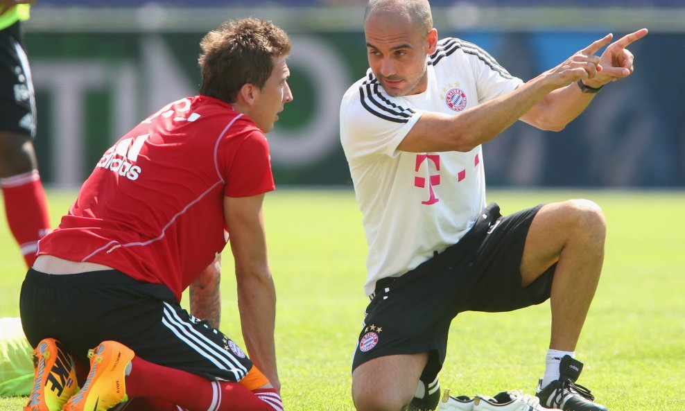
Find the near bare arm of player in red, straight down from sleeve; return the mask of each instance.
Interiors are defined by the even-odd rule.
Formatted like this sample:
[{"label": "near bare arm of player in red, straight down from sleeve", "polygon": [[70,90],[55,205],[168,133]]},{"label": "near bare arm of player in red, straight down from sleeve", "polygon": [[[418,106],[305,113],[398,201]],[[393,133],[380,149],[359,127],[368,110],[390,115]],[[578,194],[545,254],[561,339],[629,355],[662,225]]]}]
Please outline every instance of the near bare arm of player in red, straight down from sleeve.
[{"label": "near bare arm of player in red, straight down from sleeve", "polygon": [[224,213],[236,262],[238,308],[243,339],[252,362],[279,391],[274,327],[276,290],[266,256],[264,195],[224,198]]}]

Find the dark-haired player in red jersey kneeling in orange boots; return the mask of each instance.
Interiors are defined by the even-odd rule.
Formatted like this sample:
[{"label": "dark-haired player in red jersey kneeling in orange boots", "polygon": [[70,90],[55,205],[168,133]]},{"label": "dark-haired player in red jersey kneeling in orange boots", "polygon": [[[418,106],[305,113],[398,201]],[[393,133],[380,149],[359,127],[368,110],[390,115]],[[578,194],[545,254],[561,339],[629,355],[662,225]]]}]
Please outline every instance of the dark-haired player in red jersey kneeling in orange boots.
[{"label": "dark-haired player in red jersey kneeling in orange boots", "polygon": [[[275,189],[265,133],[293,100],[291,41],[248,18],[200,46],[198,96],[114,143],[40,241],[20,297],[35,348],[25,410],[103,411],[130,397],[191,411],[283,410],[262,204]],[[250,358],[180,306],[202,270],[218,272],[229,236]],[[76,375],[73,360],[88,359],[87,378]]]}]

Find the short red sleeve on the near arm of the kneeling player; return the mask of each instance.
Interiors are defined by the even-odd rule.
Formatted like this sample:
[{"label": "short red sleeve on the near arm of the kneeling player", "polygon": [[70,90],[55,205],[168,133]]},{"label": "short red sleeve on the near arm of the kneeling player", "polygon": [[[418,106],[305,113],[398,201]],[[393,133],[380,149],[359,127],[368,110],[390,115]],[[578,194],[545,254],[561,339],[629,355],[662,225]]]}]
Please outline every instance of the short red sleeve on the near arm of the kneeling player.
[{"label": "short red sleeve on the near arm of the kneeling player", "polygon": [[223,142],[227,197],[250,197],[276,188],[266,136],[254,128]]}]

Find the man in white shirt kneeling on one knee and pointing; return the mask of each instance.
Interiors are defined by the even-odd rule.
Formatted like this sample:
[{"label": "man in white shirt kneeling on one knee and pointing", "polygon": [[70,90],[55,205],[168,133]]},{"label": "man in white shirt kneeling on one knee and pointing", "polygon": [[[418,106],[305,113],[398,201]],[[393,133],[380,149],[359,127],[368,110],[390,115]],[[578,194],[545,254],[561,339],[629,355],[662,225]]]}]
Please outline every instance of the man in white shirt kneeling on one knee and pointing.
[{"label": "man in white shirt kneeling on one knee and pointing", "polygon": [[602,268],[602,211],[569,200],[502,217],[486,207],[481,144],[519,119],[562,130],[604,85],[630,76],[625,47],[647,30],[614,43],[607,35],[528,82],[474,44],[438,41],[426,0],[372,0],[364,30],[370,69],[340,107],[369,244],[372,302],[352,365],[357,410],[403,410],[422,387],[437,391],[458,313],[550,298],[537,395],[546,407],[605,411],[575,384],[574,358]]}]

